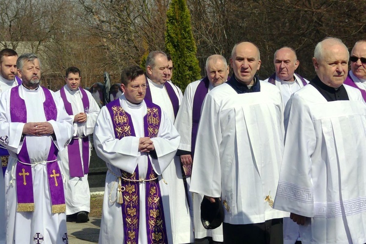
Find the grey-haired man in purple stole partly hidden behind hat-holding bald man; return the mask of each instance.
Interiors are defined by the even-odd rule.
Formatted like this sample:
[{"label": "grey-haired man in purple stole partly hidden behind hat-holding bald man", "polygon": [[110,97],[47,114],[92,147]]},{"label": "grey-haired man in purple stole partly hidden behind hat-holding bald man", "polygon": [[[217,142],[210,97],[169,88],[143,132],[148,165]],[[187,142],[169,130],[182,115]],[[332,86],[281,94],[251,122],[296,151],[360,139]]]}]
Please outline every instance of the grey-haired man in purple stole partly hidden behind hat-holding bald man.
[{"label": "grey-haired man in purple stole partly hidden behind hat-holding bald man", "polygon": [[[188,84],[185,89],[182,105],[174,123],[179,134],[181,143],[177,155],[180,155],[189,190],[192,158],[195,150],[198,122],[201,117],[201,107],[206,94],[213,88],[223,84],[229,75],[229,66],[226,59],[221,55],[212,55],[206,59],[207,76],[201,80]],[[199,150],[199,149],[198,149]],[[194,197],[193,197],[194,194]],[[206,230],[201,223],[201,202],[203,196],[189,193],[190,212],[194,218],[195,239],[210,237],[210,242],[223,242],[222,227],[214,230]],[[192,199],[193,198],[193,199]],[[194,214],[193,214],[194,213]]]}]

